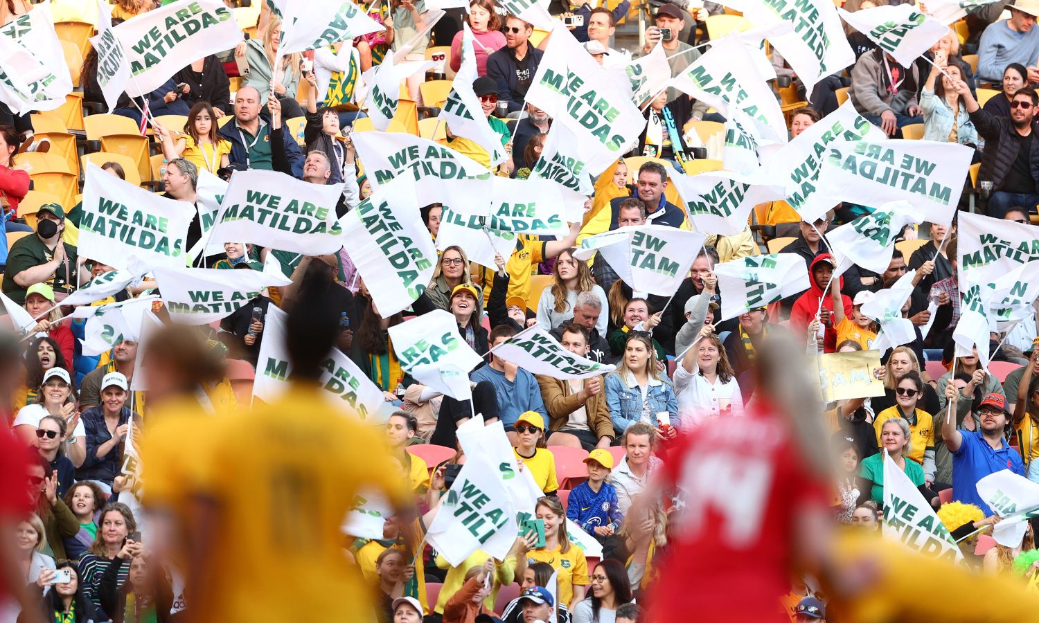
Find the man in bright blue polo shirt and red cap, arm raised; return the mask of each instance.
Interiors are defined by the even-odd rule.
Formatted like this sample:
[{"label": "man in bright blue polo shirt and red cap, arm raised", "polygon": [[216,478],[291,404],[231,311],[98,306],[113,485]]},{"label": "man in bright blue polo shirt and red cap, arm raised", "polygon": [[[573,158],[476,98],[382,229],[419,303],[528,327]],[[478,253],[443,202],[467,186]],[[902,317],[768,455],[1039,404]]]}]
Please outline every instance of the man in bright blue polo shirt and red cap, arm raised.
[{"label": "man in bright blue polo shirt and red cap, arm raised", "polygon": [[[945,398],[955,413],[960,390],[953,383],[945,387]],[[978,505],[987,517],[992,510],[978,494],[978,481],[1004,469],[1024,476],[1024,463],[1003,436],[1010,424],[1007,399],[1002,394],[989,394],[978,405],[978,416],[981,424],[977,431],[956,430],[942,422],[941,438],[953,453],[953,499]]]}]

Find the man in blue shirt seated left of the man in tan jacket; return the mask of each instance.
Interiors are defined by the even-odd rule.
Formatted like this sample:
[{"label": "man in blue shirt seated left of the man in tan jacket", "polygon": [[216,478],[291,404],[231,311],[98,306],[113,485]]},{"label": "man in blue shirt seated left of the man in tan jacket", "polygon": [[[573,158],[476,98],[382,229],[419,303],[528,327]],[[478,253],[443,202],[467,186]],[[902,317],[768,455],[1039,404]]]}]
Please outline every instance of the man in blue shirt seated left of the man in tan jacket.
[{"label": "man in blue shirt seated left of the man in tan jacket", "polygon": [[[487,346],[494,348],[515,333],[515,330],[507,325],[497,326],[490,331]],[[471,374],[470,378],[476,382],[490,381],[495,386],[498,404],[501,406],[502,425],[508,431],[509,440],[513,445],[518,441],[518,437],[512,428],[518,421],[521,413],[535,411],[541,417],[541,425],[538,428],[544,430],[544,418],[549,414],[544,410],[541,391],[534,375],[515,363],[491,354],[490,361]]]}]

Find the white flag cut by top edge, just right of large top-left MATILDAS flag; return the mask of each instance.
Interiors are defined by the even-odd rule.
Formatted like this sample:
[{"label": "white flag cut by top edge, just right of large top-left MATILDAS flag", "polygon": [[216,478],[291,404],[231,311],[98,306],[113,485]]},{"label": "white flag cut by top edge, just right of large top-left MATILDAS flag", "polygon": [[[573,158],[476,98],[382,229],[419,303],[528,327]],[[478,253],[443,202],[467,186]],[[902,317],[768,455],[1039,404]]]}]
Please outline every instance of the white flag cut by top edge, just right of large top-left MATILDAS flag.
[{"label": "white flag cut by top edge, just right of large top-left MATILDAS flag", "polygon": [[364,8],[351,0],[337,0],[331,6],[315,5],[311,0],[291,0],[286,3],[285,11],[279,55],[317,50],[385,30],[385,26],[369,18]]}]

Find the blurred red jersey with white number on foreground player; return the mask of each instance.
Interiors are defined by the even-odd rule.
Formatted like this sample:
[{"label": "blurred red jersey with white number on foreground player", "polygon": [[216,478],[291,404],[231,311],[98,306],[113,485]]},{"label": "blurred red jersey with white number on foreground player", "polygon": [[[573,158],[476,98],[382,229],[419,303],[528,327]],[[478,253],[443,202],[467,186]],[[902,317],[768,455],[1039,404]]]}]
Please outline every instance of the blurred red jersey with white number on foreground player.
[{"label": "blurred red jersey with white number on foreground player", "polygon": [[778,599],[790,589],[797,510],[828,503],[789,424],[757,411],[709,422],[664,473],[685,506],[672,515],[649,620],[787,621]]}]

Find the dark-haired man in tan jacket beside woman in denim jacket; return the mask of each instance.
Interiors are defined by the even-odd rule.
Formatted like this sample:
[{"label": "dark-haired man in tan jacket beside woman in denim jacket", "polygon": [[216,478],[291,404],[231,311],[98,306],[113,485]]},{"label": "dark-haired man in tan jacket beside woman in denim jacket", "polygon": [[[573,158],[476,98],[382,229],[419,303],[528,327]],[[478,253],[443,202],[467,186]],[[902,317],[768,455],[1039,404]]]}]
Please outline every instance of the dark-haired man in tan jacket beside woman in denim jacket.
[{"label": "dark-haired man in tan jacket beside woman in denim jacket", "polygon": [[[560,332],[563,348],[579,357],[587,357],[588,329],[581,325],[567,325]],[[571,448],[609,448],[613,442],[613,424],[603,394],[603,377],[584,380],[556,379],[537,375],[541,400],[550,416],[552,445]]]}]

